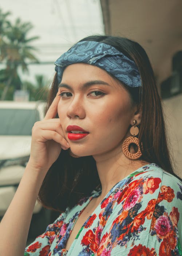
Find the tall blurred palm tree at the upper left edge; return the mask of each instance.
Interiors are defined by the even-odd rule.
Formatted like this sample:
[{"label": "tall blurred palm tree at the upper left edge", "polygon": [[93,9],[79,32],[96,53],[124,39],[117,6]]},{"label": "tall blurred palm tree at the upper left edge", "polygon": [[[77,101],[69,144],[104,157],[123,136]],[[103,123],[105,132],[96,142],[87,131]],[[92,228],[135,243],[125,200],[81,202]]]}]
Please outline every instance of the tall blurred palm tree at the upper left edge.
[{"label": "tall blurred palm tree at the upper left edge", "polygon": [[38,63],[37,58],[33,54],[33,51],[35,51],[36,48],[29,45],[29,43],[39,37],[27,38],[27,34],[32,27],[30,22],[23,23],[18,18],[14,25],[9,22],[9,26],[4,30],[1,59],[6,63],[4,76],[8,79],[6,79],[1,100],[5,99],[9,86],[13,80],[20,80],[17,72],[18,67],[21,67],[23,72],[28,72],[27,61]]}]

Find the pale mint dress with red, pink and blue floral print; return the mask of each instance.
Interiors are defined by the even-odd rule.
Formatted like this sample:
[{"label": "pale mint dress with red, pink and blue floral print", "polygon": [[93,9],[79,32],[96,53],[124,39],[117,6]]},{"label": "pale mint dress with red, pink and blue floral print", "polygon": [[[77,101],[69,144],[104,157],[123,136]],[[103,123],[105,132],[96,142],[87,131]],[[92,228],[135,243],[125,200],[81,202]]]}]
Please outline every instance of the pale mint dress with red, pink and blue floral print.
[{"label": "pale mint dress with red, pink and blue floral print", "polygon": [[154,163],[118,182],[84,223],[69,251],[66,241],[92,192],[49,225],[24,256],[182,255],[182,183]]}]

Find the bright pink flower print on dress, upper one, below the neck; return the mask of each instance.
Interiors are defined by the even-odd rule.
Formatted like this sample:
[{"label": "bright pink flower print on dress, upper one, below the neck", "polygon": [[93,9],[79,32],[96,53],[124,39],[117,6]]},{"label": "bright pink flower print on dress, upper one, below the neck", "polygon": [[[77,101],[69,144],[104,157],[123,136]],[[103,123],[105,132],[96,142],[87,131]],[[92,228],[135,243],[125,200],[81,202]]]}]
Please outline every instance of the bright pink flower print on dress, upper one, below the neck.
[{"label": "bright pink flower print on dress, upper one, below the neck", "polygon": [[135,188],[130,193],[128,193],[128,196],[123,204],[124,210],[129,210],[132,207],[135,206],[136,203],[141,201],[141,192],[139,188]]}]

